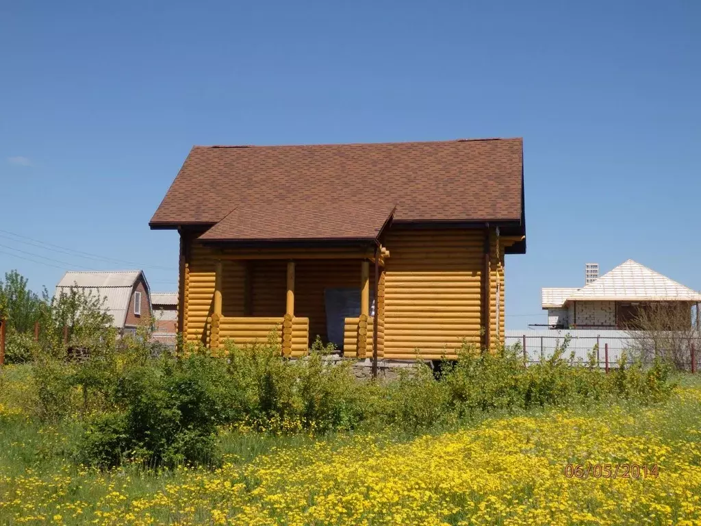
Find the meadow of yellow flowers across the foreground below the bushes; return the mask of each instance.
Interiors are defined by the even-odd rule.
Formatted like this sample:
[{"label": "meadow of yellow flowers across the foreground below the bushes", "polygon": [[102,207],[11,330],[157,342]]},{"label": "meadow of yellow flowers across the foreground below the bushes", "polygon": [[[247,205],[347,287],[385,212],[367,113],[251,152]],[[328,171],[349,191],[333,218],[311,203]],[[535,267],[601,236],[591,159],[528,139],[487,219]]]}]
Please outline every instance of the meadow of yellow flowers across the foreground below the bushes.
[{"label": "meadow of yellow flowers across the foreground below the bushes", "polygon": [[[3,422],[18,417],[0,407]],[[3,420],[5,419],[5,420]],[[339,436],[227,456],[217,471],[0,466],[2,524],[701,524],[701,389],[653,407],[489,419],[398,440]],[[60,433],[44,431],[53,445]],[[252,433],[246,440],[256,440]],[[53,442],[52,442],[53,440]],[[8,443],[4,441],[3,443]],[[11,443],[12,454],[31,445]],[[4,452],[3,454],[8,454]],[[565,475],[568,463],[658,465],[658,475]],[[580,473],[582,475],[582,473]],[[583,476],[583,475],[582,475]]]}]

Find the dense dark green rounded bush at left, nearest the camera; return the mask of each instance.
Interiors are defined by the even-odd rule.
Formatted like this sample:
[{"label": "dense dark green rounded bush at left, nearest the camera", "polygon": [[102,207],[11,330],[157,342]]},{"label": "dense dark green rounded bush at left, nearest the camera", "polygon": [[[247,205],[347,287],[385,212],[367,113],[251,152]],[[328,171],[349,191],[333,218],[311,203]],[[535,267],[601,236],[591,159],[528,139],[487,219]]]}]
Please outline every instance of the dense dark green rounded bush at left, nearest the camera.
[{"label": "dense dark green rounded bush at left, nearest the camera", "polygon": [[191,355],[133,367],[118,379],[116,410],[98,414],[81,445],[87,464],[217,464],[217,426],[229,407],[222,360]]}]

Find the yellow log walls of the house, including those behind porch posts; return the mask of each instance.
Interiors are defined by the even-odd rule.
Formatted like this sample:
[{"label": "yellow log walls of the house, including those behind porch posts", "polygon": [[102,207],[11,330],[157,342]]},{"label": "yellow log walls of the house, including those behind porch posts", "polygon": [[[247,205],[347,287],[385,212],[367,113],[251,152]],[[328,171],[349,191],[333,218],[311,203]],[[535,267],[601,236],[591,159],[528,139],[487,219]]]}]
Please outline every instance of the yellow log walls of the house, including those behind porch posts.
[{"label": "yellow log walls of the house, including those behind porch posts", "polygon": [[[497,248],[491,234],[490,330],[493,346],[499,323],[503,342],[505,320],[503,246]],[[484,268],[484,231],[390,230],[384,241],[390,250],[378,289],[378,356],[414,359],[416,349],[423,358],[455,356],[463,338],[479,344],[480,281]],[[207,318],[212,316],[217,254],[197,241],[187,243],[181,269],[182,326],[186,341],[207,342]],[[299,259],[295,275],[295,305],[292,355],[302,352],[315,335],[326,336],[324,289],[360,289],[360,259]],[[247,276],[247,267],[250,268]],[[222,276],[222,322],[244,316],[246,290],[250,291],[250,314],[280,320],[285,314],[287,262],[264,259],[246,262],[224,259]],[[497,280],[499,315],[496,315]],[[247,288],[247,283],[249,287]],[[373,292],[371,290],[372,297]],[[250,319],[250,318],[247,318]],[[304,320],[305,321],[299,321]],[[354,356],[357,348],[357,318],[353,341],[344,335],[344,353]],[[299,324],[307,324],[306,331]],[[220,341],[224,335],[220,326]],[[366,356],[372,356],[372,316],[367,323]],[[297,335],[297,336],[295,336]],[[297,343],[295,343],[297,342]]]}]

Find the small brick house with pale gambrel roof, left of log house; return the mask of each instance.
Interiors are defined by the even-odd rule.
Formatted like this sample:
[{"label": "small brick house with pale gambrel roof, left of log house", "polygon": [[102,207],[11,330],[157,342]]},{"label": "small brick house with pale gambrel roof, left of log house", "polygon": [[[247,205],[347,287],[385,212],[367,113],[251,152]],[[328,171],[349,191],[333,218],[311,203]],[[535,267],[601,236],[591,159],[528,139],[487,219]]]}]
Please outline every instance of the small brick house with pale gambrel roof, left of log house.
[{"label": "small brick house with pale gambrel roof, left of log house", "polygon": [[150,323],[151,300],[149,283],[140,270],[127,271],[68,271],[56,285],[56,295],[69,292],[72,287],[93,292],[101,299],[112,318],[113,326],[122,330],[136,330]]}]

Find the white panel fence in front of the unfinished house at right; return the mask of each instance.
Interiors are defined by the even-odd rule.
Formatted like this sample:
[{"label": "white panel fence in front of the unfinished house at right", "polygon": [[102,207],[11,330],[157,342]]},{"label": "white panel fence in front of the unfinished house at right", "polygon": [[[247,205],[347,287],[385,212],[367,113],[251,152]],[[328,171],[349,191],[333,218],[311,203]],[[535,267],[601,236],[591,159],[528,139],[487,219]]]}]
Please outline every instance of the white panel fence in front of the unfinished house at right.
[{"label": "white panel fence in front of the unfinished house at right", "polygon": [[[633,363],[640,359],[640,347],[648,339],[653,346],[653,339],[636,331],[621,330],[507,330],[505,344],[508,346],[519,345],[524,356],[524,363],[540,363],[552,357],[556,349],[559,349],[569,337],[567,349],[563,358],[569,358],[574,353],[576,361],[591,363],[592,355],[594,364],[602,369],[610,370],[618,367],[621,356],[625,352],[625,364]],[[679,339],[683,340],[683,349],[676,349],[681,353],[681,358],[676,356],[676,361],[690,372],[696,372],[700,368],[701,340],[695,337]],[[679,343],[677,342],[677,343]],[[664,354],[665,349],[658,349],[659,354]],[[652,352],[651,354],[654,354]],[[652,363],[652,357],[644,358],[643,363]]]}]

